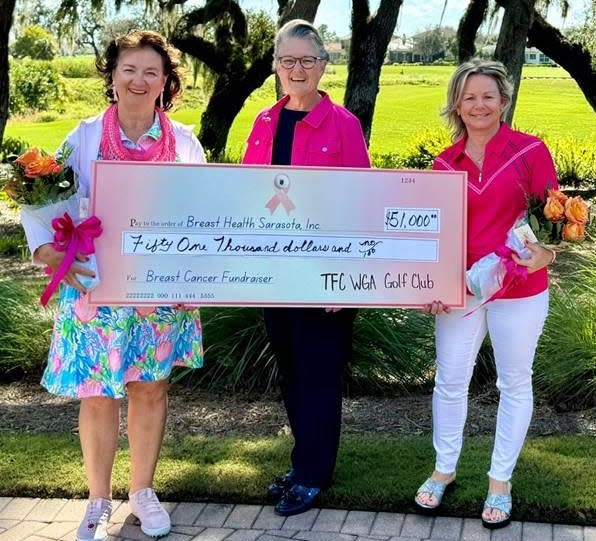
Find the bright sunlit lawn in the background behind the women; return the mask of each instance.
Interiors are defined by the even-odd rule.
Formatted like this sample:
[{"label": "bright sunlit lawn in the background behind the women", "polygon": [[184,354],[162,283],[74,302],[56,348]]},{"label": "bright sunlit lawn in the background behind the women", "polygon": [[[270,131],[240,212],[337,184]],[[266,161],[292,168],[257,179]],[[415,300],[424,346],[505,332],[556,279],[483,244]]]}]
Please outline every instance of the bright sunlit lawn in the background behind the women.
[{"label": "bright sunlit lawn in the background behind the women", "polygon": [[[441,129],[439,110],[444,105],[447,81],[453,66],[385,66],[376,102],[370,150],[403,152],[413,137]],[[321,81],[338,102],[343,101],[346,66],[330,66]],[[525,67],[514,125],[555,142],[572,139],[578,145],[596,140],[596,115],[573,79],[561,68]],[[99,112],[101,85],[97,79],[67,80],[69,102],[64,112],[42,115],[47,122],[11,120],[6,135],[52,151],[78,121]],[[257,90],[236,118],[228,140],[228,152],[239,155],[252,122],[263,107],[274,101],[273,78]],[[192,107],[186,104],[191,104]],[[172,115],[198,132],[202,93],[187,90],[186,102]]]}]

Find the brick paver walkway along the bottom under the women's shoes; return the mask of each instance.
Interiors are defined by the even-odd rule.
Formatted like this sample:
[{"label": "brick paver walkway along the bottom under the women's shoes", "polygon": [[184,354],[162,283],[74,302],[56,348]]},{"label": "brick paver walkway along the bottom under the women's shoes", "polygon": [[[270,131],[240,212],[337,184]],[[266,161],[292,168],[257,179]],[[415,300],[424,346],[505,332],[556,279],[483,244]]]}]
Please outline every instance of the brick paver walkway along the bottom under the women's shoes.
[{"label": "brick paver walkway along the bottom under the women's shoes", "polygon": [[[0,541],[73,541],[86,501],[0,497]],[[512,522],[491,532],[479,519],[311,509],[282,518],[273,507],[164,504],[172,532],[163,541],[596,541],[596,527]],[[126,502],[114,502],[110,541],[149,541]]]}]

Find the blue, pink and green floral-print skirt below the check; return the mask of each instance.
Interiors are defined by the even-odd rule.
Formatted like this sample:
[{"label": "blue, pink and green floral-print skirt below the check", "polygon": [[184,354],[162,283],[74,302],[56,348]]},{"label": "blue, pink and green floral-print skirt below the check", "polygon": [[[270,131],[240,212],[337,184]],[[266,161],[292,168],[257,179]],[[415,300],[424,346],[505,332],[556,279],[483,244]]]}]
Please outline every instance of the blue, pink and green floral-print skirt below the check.
[{"label": "blue, pink and green floral-print skirt below the check", "polygon": [[41,384],[72,398],[123,398],[131,381],[167,379],[173,366],[203,366],[199,311],[94,307],[62,286]]}]

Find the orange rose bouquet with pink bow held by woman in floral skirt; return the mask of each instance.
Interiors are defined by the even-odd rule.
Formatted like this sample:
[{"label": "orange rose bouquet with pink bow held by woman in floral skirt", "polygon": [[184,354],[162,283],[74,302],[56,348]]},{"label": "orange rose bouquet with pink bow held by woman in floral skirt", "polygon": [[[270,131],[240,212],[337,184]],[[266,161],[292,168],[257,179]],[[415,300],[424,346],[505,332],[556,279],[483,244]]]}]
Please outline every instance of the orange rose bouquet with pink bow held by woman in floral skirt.
[{"label": "orange rose bouquet with pink bow held by woman in floral skirt", "polygon": [[[53,273],[42,293],[45,306],[70,268],[78,253],[89,255],[77,262],[91,269],[96,278],[77,275],[87,290],[98,283],[93,239],[101,234],[101,222],[89,217],[89,199],[79,197],[72,168],[66,165],[72,149],[64,146],[56,156],[32,148],[18,157],[0,164],[0,189],[20,206],[21,221],[40,224],[53,237],[56,250],[65,252],[62,263]],[[47,268],[46,274],[52,274]]]}]

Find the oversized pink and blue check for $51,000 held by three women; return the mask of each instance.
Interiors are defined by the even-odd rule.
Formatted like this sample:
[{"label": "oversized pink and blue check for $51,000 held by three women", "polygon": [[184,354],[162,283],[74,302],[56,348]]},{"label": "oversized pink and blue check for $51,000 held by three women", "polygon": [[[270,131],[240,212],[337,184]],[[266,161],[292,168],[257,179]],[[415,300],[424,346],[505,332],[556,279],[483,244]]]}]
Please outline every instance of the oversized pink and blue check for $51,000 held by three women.
[{"label": "oversized pink and blue check for $51,000 held by three women", "polygon": [[98,161],[96,305],[465,305],[465,173]]}]

